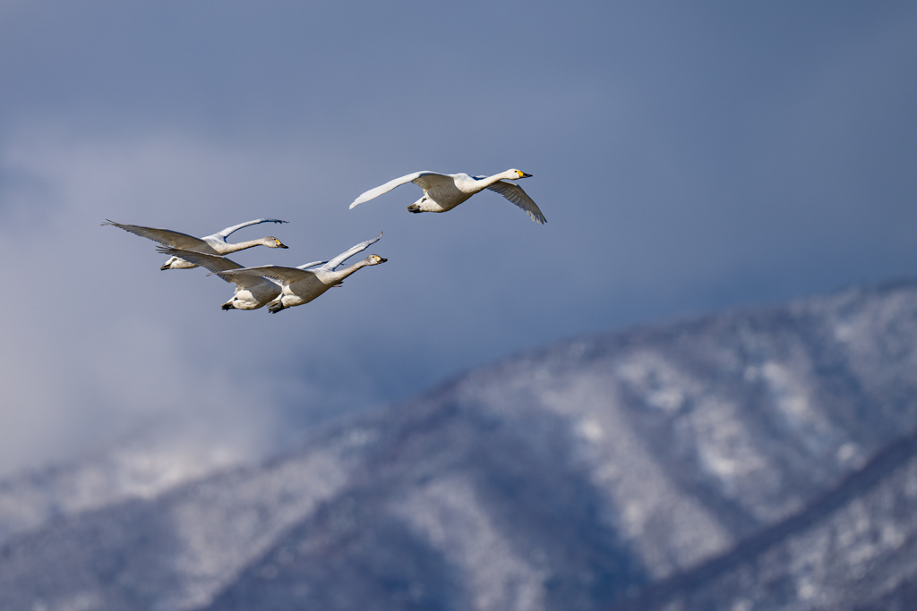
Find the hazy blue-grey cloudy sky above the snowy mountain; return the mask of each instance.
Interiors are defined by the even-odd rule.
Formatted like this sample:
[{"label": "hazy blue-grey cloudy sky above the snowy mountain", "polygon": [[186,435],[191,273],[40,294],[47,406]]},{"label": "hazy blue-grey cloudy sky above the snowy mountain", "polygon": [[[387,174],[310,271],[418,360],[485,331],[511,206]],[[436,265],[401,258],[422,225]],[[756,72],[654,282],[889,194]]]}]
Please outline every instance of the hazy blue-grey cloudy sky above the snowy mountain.
[{"label": "hazy blue-grey cloudy sky above the snowy mountain", "polygon": [[[161,422],[239,460],[581,333],[917,273],[908,2],[0,0],[0,475]],[[411,214],[417,170],[517,168]],[[378,235],[305,306],[220,311],[105,219]]]}]

